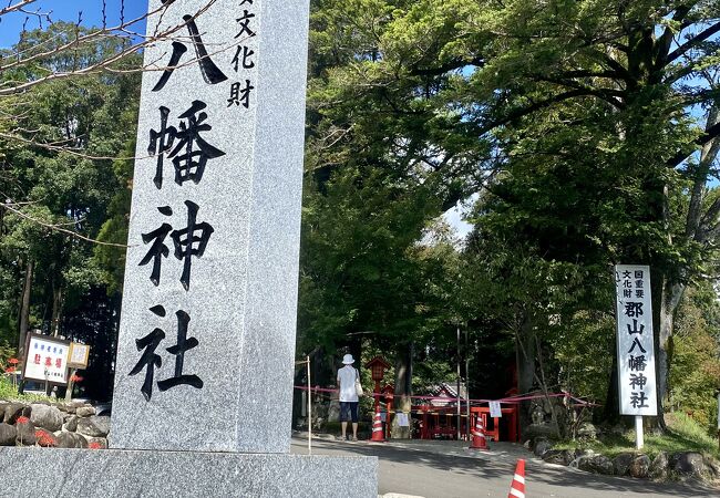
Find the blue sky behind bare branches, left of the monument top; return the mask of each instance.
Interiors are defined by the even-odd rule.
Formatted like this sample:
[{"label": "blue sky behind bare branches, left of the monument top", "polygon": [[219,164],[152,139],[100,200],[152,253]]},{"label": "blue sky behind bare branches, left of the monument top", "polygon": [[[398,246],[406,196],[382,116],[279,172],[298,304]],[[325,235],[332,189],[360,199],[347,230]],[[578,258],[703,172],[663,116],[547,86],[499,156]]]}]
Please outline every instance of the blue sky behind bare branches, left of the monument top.
[{"label": "blue sky behind bare branches, left of the monument top", "polygon": [[[4,2],[7,4],[7,1]],[[14,3],[14,2],[13,2]],[[131,20],[147,12],[147,0],[125,0],[125,20]],[[50,14],[53,21],[78,21],[79,12],[82,12],[84,25],[102,24],[102,0],[37,0],[28,6],[29,11],[40,10],[52,11]],[[120,20],[121,0],[106,0],[107,25],[115,25]],[[3,7],[6,7],[3,4]],[[39,28],[38,20],[27,13],[13,12],[0,18],[0,49],[12,46],[20,39],[22,24],[28,19],[27,29]],[[44,24],[43,24],[44,25]],[[145,25],[138,24],[133,31],[145,31]]]}]

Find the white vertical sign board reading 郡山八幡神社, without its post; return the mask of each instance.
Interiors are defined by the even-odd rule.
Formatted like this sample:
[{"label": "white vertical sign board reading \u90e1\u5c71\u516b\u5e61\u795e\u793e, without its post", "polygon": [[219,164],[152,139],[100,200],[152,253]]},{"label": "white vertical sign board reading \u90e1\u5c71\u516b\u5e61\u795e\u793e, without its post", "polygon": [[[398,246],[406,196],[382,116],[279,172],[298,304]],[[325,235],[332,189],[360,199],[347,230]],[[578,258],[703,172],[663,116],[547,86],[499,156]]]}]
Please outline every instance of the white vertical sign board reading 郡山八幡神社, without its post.
[{"label": "white vertical sign board reading \u90e1\u5c71\u516b\u5e61\u795e\u793e, without its post", "polygon": [[617,264],[617,362],[621,415],[657,415],[650,267]]}]

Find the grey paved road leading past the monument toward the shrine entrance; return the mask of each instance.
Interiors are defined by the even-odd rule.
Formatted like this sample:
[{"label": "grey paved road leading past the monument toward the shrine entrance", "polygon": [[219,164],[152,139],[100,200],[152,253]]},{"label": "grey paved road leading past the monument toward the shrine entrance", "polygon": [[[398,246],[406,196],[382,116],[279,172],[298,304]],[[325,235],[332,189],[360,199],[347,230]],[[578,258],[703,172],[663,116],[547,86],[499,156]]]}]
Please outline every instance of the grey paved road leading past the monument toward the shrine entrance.
[{"label": "grey paved road leading past the monument toward the shrine entrance", "polygon": [[[292,438],[292,453],[307,454],[307,439]],[[528,498],[599,497],[720,497],[720,489],[698,483],[657,484],[647,480],[599,476],[545,464],[522,446],[497,443],[491,453],[472,453],[456,442],[405,442],[388,444],[313,440],[313,455],[379,457],[381,495],[398,492],[425,498],[507,496],[515,461],[526,459]]]}]

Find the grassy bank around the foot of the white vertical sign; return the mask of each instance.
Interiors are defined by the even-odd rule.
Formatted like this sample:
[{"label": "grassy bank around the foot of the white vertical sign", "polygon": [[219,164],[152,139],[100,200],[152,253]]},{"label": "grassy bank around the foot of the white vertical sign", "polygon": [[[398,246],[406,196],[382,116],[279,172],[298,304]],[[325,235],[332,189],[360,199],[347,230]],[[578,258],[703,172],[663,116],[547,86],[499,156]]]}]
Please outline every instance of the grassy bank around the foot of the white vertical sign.
[{"label": "grassy bank around the foot of the white vertical sign", "polygon": [[[667,414],[665,421],[668,425],[666,434],[658,436],[645,434],[645,446],[641,453],[655,457],[660,452],[699,452],[704,455],[720,458],[718,439],[710,436],[707,429],[685,413],[675,412]],[[635,429],[623,435],[604,434],[593,442],[560,442],[554,449],[592,449],[610,458],[620,453],[635,452]]]}]

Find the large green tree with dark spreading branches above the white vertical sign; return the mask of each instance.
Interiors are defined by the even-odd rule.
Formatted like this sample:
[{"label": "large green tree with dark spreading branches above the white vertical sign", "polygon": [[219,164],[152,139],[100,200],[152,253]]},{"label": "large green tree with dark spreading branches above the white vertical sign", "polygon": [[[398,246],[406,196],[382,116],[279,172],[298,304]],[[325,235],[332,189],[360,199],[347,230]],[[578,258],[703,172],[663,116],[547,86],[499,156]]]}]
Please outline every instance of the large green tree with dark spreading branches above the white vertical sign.
[{"label": "large green tree with dark spreading branches above the white vertical sign", "polygon": [[508,227],[531,274],[603,289],[576,283],[567,301],[532,280],[518,302],[543,328],[558,300],[566,320],[608,312],[611,263],[651,264],[662,394],[677,304],[718,230],[717,3],[317,6],[312,173],[368,160],[405,179],[420,165],[441,208],[487,190],[479,218]]}]

